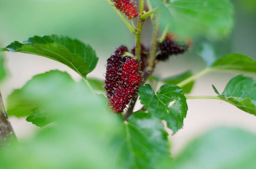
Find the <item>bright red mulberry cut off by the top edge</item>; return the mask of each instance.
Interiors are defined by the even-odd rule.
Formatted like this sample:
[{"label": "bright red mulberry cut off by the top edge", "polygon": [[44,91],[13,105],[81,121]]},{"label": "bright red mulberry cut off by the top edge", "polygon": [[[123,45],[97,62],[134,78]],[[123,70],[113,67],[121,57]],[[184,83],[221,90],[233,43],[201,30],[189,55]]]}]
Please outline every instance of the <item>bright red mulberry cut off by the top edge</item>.
[{"label": "bright red mulberry cut off by the top edge", "polygon": [[138,16],[136,7],[131,0],[112,0],[115,7],[118,8],[128,19],[134,19]]}]

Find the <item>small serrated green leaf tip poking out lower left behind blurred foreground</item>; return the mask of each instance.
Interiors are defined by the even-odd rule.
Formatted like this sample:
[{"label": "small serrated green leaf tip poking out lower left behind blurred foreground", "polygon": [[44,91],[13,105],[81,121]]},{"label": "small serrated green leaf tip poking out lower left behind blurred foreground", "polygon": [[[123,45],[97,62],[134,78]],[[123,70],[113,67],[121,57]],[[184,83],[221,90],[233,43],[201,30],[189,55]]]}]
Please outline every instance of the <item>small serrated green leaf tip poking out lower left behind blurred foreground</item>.
[{"label": "small serrated green leaf tip poking out lower left behind blurred foreground", "polygon": [[31,114],[28,115],[26,121],[32,122],[38,127],[44,127],[47,124],[54,122],[55,118],[52,115],[47,114],[44,109],[36,107],[31,110]]}]

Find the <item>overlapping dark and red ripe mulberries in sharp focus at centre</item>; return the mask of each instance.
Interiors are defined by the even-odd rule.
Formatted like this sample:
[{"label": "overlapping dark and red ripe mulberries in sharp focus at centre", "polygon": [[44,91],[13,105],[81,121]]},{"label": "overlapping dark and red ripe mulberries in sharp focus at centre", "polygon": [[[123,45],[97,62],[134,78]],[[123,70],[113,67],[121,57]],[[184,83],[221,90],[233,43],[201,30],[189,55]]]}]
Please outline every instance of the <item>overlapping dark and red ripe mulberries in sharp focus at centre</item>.
[{"label": "overlapping dark and red ripe mulberries in sharp focus at centre", "polygon": [[123,57],[126,47],[120,46],[115,53],[107,59],[107,73],[105,88],[109,105],[116,113],[121,113],[137,92],[137,86],[141,81],[136,60]]}]

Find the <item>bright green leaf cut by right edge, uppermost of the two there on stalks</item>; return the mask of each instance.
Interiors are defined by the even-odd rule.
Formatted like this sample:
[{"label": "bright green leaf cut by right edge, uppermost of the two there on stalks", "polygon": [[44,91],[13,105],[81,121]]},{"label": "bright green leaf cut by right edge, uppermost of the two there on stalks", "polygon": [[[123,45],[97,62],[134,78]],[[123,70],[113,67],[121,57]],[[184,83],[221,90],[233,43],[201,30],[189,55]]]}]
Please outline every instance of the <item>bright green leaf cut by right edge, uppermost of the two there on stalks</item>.
[{"label": "bright green leaf cut by right edge, uppermost of the two there on stalks", "polygon": [[216,60],[211,69],[215,70],[239,70],[256,73],[256,61],[246,55],[229,54]]}]

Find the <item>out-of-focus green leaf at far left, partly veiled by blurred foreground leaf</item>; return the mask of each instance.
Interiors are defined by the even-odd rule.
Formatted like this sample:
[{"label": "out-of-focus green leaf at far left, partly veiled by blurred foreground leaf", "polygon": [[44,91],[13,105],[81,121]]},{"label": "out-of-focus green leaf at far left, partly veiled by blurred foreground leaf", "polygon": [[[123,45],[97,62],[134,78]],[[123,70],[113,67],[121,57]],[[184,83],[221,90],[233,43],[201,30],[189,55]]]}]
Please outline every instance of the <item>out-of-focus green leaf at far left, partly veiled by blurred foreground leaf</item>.
[{"label": "out-of-focus green leaf at far left, partly veiled by blurred foreground leaf", "polygon": [[[28,81],[22,88],[15,90],[12,92],[10,96],[7,98],[7,113],[8,115],[15,115],[16,117],[23,117],[27,116],[31,113],[31,110],[36,108],[37,106],[40,106],[40,103],[36,102],[35,100],[24,100],[23,95],[24,91],[29,90],[32,86],[34,87],[34,83],[38,83],[40,81],[42,84],[46,84],[47,79],[49,78],[48,74],[51,75],[52,78],[59,79],[58,85],[63,86],[66,84],[67,79],[72,79],[70,75],[67,73],[59,72],[57,70],[52,70],[50,72],[46,72],[45,74],[38,74],[35,75],[30,81]],[[71,81],[71,80],[70,80]],[[57,83],[57,82],[56,82]],[[38,88],[41,92],[46,92],[42,91],[40,88]]]}]

